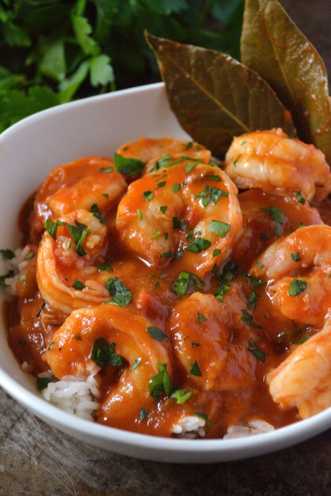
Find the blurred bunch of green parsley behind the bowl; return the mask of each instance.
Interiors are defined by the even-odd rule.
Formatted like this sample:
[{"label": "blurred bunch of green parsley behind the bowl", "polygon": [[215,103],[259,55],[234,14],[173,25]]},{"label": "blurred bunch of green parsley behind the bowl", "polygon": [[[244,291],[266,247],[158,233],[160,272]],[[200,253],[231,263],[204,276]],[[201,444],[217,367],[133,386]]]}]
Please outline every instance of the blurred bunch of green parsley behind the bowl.
[{"label": "blurred bunch of green parsley behind the bowl", "polygon": [[159,80],[143,31],[239,58],[243,0],[1,0],[0,131],[73,98]]}]

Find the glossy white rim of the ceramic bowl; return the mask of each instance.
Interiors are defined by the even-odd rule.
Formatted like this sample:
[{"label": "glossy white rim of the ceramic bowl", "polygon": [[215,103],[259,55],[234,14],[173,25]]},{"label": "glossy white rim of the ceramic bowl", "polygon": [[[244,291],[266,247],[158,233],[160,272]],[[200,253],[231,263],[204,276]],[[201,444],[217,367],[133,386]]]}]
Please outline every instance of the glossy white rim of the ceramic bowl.
[{"label": "glossy white rim of the ceramic bowl", "polygon": [[[81,100],[68,102],[62,105],[51,107],[46,110],[42,110],[22,119],[21,121],[5,129],[0,134],[0,146],[3,139],[10,137],[11,134],[20,132],[21,129],[32,124],[33,122],[42,121],[44,118],[56,116],[58,114],[66,112],[68,109],[83,107],[95,101],[121,99],[130,94],[139,94],[142,92],[150,92],[153,90],[158,91],[164,89],[164,87],[165,85],[162,82],[137,86],[129,89],[118,90],[114,93],[106,93],[103,95],[87,97]],[[2,328],[5,331],[3,322]],[[34,393],[20,384],[17,380],[15,380],[15,378],[11,377],[2,369],[1,364],[0,385],[10,396],[12,396],[28,410],[32,410],[38,417],[41,417],[50,425],[56,425],[59,429],[66,430],[66,432],[71,431],[77,434],[92,434],[99,440],[113,441],[115,443],[119,442],[122,445],[132,446],[136,449],[149,448],[153,451],[156,450],[163,452],[180,453],[189,452],[200,454],[207,454],[211,452],[227,452],[230,456],[231,453],[232,455],[234,455],[235,453],[238,453],[240,450],[242,450],[243,456],[239,455],[235,457],[247,458],[250,456],[254,456],[255,454],[260,454],[262,452],[273,451],[282,447],[293,445],[331,427],[330,407],[308,419],[300,420],[285,427],[277,428],[274,431],[258,435],[231,439],[215,438],[196,440],[160,437],[151,434],[139,434],[122,429],[108,427],[66,413],[55,405],[44,400],[41,396],[38,397],[37,389]],[[116,451],[116,449],[114,450]],[[183,461],[185,462],[185,460]],[[199,459],[198,461],[201,462],[201,459]],[[215,460],[213,459],[211,461]]]}]

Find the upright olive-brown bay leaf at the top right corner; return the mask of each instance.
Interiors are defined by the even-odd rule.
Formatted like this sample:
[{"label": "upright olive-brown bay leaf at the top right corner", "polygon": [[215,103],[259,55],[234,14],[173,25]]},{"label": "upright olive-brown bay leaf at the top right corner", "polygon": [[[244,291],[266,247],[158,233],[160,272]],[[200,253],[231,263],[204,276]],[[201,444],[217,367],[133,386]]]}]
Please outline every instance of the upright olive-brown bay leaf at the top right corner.
[{"label": "upright olive-brown bay leaf at the top right corner", "polygon": [[322,150],[331,165],[327,71],[277,0],[246,0],[241,58],[291,112],[299,138]]}]

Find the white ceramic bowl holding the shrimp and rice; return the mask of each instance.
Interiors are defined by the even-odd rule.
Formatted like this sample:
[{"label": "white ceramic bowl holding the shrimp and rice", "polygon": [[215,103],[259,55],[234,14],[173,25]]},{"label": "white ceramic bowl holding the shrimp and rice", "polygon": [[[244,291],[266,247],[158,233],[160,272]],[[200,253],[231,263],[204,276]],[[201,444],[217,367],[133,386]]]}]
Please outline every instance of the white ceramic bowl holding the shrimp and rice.
[{"label": "white ceramic bowl holding the shrimp and rice", "polygon": [[[87,98],[35,114],[0,136],[0,248],[16,248],[23,200],[55,166],[85,155],[113,156],[140,135],[187,137],[170,111],[163,84]],[[331,427],[331,408],[272,433],[240,439],[186,440],[134,434],[62,412],[43,400],[35,378],[22,372],[0,326],[0,384],[45,422],[82,441],[155,461],[200,463],[261,455]]]}]

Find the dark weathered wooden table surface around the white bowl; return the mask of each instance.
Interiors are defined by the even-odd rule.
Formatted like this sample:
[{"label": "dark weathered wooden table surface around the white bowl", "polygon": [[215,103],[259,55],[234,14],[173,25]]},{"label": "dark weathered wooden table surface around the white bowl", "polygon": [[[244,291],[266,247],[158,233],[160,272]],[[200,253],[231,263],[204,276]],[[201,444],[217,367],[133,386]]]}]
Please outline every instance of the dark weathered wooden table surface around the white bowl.
[{"label": "dark weathered wooden table surface around the white bowl", "polygon": [[[331,79],[331,1],[281,3]],[[141,461],[62,434],[0,389],[0,496],[329,496],[330,441],[328,431],[271,455],[212,465]]]}]

